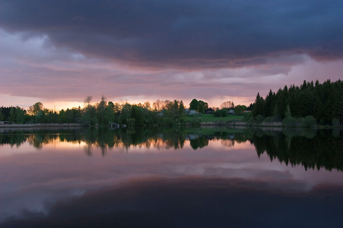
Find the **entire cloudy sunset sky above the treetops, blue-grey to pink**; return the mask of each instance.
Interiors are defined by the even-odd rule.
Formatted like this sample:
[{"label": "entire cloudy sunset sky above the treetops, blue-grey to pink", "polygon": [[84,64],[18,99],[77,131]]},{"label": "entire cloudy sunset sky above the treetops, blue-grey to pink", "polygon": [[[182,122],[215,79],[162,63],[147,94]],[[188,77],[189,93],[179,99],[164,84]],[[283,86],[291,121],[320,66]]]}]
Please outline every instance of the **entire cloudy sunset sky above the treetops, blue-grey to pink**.
[{"label": "entire cloudy sunset sky above the treetops, blue-grey to pink", "polygon": [[0,0],[0,106],[196,98],[343,79],[341,0]]}]

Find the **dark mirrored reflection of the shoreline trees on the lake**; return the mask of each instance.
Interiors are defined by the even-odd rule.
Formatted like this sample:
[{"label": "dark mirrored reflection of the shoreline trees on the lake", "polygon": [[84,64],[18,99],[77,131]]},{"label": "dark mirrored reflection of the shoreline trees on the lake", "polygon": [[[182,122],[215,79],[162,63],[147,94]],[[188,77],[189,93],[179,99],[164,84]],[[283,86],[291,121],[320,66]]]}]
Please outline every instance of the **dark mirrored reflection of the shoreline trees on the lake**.
[{"label": "dark mirrored reflection of the shoreline trees on the lake", "polygon": [[[0,129],[4,130],[4,129]],[[67,129],[9,129],[0,133],[0,144],[20,147],[28,142],[40,149],[45,144],[85,143],[85,153],[101,149],[103,156],[111,148],[128,150],[143,148],[182,149],[189,141],[194,150],[204,148],[210,141],[220,141],[223,147],[250,142],[257,155],[267,153],[270,160],[286,165],[302,165],[305,170],[325,168],[343,171],[343,139],[340,129],[315,128],[229,128],[229,127],[153,127],[153,128],[67,128]]]}]

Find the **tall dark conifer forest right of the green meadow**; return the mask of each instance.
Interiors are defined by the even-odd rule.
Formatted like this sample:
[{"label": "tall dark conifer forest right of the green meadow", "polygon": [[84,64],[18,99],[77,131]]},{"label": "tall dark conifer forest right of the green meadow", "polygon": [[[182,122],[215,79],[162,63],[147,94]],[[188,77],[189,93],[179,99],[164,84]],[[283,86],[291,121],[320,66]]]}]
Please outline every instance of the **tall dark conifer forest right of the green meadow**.
[{"label": "tall dark conifer forest right of the green meadow", "polygon": [[317,80],[299,86],[285,86],[269,91],[265,99],[257,93],[252,106],[252,117],[271,117],[274,121],[296,121],[297,118],[313,118],[321,125],[331,125],[343,114],[343,81],[322,84]]}]

